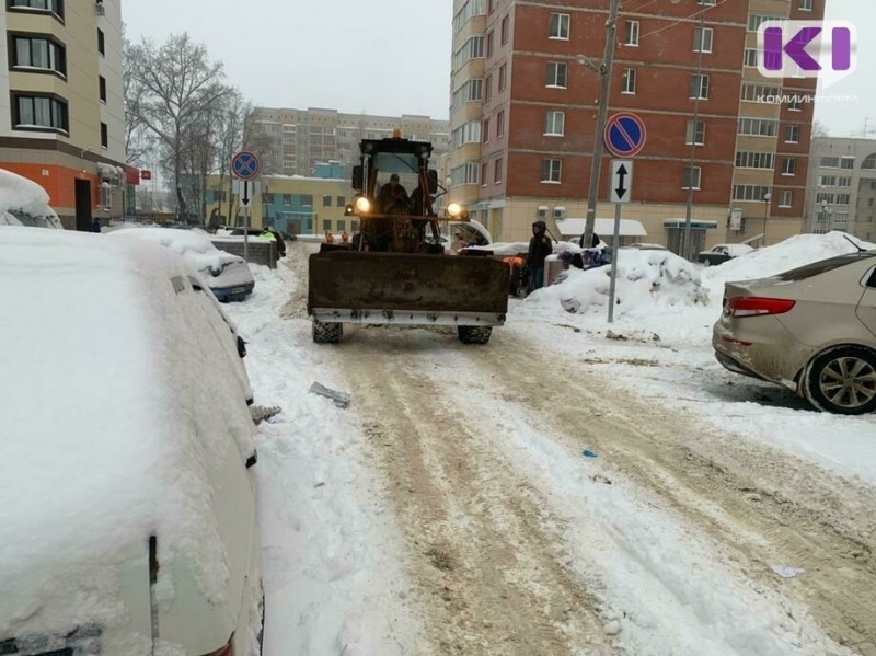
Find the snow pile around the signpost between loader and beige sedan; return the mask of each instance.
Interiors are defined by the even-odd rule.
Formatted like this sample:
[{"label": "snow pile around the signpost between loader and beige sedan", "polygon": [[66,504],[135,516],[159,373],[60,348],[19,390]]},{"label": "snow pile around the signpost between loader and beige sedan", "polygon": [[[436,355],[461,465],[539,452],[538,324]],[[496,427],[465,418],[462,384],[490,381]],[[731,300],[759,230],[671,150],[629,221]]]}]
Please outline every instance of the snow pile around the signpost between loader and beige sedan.
[{"label": "snow pile around the signpost between loader and beige sedan", "polygon": [[[557,281],[529,296],[516,310],[521,314],[541,314],[545,310],[578,314],[604,313],[609,302],[611,266],[588,271],[569,268]],[[677,306],[706,303],[700,274],[690,262],[670,251],[624,249],[619,251],[614,315],[635,310],[675,312]]]}]

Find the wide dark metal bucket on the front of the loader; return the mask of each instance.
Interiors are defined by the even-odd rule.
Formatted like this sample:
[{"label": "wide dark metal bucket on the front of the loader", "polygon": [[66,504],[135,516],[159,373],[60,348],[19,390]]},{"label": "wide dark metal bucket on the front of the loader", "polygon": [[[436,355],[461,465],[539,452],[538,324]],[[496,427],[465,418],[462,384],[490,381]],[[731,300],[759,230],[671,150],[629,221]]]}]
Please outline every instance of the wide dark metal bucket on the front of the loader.
[{"label": "wide dark metal bucket on the front of the loader", "polygon": [[310,256],[308,313],[323,323],[502,325],[508,276],[491,257],[326,250]]}]

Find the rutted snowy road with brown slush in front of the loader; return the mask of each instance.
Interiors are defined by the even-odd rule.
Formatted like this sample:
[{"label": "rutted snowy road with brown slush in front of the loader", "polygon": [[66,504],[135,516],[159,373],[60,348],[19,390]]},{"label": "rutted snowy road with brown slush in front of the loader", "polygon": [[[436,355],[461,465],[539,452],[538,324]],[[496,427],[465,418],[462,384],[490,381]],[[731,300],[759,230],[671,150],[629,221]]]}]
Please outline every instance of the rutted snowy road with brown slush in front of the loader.
[{"label": "rutted snowy road with brown slush in front of the loader", "polygon": [[[629,377],[583,375],[539,341],[587,338],[572,326],[509,321],[481,347],[447,330],[345,326],[342,344],[314,345],[314,246],[290,246],[283,302],[234,309],[256,400],[285,410],[260,450],[263,525],[277,522],[263,527],[267,656],[876,654],[872,486],[780,461],[638,396]],[[351,407],[295,401],[316,377]],[[338,464],[322,439],[359,468],[327,506],[318,494]],[[314,484],[299,481],[308,468]],[[304,530],[302,513],[323,521]],[[346,579],[301,544],[332,543],[342,521],[364,522],[342,531],[359,572]]]}]

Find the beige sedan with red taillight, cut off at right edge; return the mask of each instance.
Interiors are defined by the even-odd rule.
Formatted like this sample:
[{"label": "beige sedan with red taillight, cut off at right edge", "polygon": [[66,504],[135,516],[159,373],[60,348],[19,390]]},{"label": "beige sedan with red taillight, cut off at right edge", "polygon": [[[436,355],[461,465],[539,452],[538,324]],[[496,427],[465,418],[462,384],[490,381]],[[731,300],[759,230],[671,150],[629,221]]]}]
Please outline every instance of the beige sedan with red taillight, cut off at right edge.
[{"label": "beige sedan with red taillight, cut off at right edge", "polygon": [[876,251],[726,283],[713,330],[727,369],[784,385],[815,407],[876,410]]}]

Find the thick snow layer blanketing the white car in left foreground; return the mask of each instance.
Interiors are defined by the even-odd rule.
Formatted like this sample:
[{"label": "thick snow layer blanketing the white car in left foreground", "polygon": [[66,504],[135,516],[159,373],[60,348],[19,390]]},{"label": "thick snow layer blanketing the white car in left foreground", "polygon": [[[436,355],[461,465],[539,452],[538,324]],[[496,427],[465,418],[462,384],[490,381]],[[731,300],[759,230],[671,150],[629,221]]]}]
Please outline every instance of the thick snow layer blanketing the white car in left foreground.
[{"label": "thick snow layer blanketing the white car in left foreground", "polygon": [[118,621],[114,582],[150,534],[223,594],[208,472],[216,436],[244,457],[253,425],[240,361],[216,357],[230,329],[185,311],[215,302],[192,275],[137,240],[0,230],[0,636]]}]

